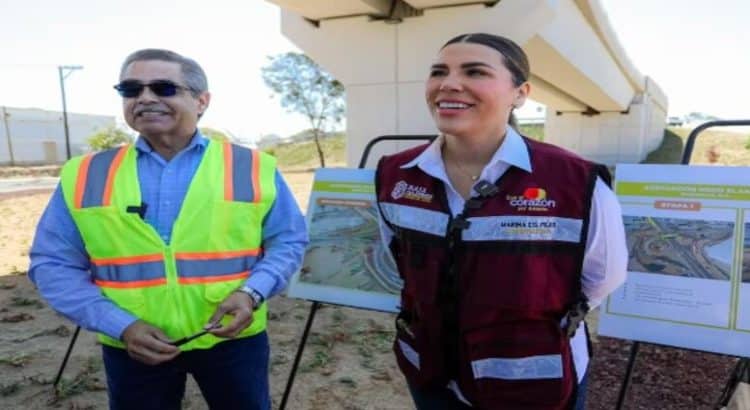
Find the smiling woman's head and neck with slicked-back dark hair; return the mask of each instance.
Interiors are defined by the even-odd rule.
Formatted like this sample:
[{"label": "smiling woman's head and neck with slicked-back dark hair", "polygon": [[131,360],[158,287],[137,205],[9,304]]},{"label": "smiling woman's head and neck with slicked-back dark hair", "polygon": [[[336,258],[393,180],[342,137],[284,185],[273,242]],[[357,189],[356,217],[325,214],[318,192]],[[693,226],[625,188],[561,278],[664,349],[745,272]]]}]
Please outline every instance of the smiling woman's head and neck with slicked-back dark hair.
[{"label": "smiling woman's head and neck with slicked-back dark hair", "polygon": [[446,172],[464,198],[530,91],[529,63],[515,43],[494,36],[467,38],[446,43],[426,85],[427,105],[445,138]]}]

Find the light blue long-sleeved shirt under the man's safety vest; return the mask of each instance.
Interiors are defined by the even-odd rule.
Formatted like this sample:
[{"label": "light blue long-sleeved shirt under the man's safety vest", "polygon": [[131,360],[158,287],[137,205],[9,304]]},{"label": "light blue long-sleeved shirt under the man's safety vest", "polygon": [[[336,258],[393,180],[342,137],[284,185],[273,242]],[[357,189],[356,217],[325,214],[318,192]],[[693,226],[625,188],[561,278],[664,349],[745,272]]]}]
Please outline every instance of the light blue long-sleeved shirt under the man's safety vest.
[{"label": "light blue long-sleeved shirt under the man's safety vest", "polygon": [[[165,243],[185,200],[190,181],[208,145],[196,133],[187,147],[166,161],[138,138],[138,181],[145,220]],[[246,286],[266,299],[281,292],[302,263],[307,245],[305,219],[289,187],[276,171],[276,200],[263,221],[263,256]],[[119,339],[137,318],[102,295],[89,273],[89,255],[58,185],[37,226],[29,278],[58,312],[81,327]]]}]

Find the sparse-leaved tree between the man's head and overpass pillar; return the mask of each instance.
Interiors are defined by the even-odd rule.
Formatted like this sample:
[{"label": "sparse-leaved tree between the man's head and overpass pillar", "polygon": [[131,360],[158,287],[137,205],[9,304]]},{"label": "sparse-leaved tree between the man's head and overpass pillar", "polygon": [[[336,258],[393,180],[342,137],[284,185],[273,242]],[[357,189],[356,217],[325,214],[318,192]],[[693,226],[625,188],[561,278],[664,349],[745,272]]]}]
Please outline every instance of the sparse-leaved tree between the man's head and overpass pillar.
[{"label": "sparse-leaved tree between the man's head and overpass pillar", "polygon": [[269,61],[262,69],[263,81],[281,97],[282,107],[310,121],[320,166],[325,167],[320,136],[327,125],[339,123],[344,115],[343,84],[304,54],[289,52]]}]

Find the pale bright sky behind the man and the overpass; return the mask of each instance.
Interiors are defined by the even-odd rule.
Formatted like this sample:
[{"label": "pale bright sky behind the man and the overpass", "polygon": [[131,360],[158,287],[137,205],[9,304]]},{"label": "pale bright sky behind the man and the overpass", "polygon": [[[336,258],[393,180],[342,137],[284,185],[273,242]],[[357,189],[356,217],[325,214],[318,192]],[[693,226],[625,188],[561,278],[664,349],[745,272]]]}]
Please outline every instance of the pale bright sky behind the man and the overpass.
[{"label": "pale bright sky behind the man and the overpass", "polygon": [[[635,67],[667,94],[670,115],[750,117],[750,1],[600,2]],[[212,100],[201,126],[246,140],[307,128],[263,84],[268,56],[300,51],[263,0],[0,0],[0,106],[61,110],[57,66],[82,65],[65,80],[68,110],[121,121],[112,85],[125,56],[147,47],[203,66]]]}]

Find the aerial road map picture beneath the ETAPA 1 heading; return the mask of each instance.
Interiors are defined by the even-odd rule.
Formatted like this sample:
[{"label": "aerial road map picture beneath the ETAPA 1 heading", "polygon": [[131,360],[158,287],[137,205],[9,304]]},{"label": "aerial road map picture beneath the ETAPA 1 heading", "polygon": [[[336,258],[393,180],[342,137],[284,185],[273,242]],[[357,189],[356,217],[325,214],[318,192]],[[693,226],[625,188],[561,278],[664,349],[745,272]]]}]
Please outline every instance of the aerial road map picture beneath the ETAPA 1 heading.
[{"label": "aerial road map picture beneath the ETAPA 1 heading", "polygon": [[734,223],[647,216],[623,220],[629,271],[729,280]]}]

